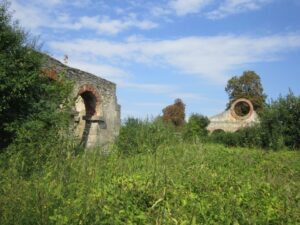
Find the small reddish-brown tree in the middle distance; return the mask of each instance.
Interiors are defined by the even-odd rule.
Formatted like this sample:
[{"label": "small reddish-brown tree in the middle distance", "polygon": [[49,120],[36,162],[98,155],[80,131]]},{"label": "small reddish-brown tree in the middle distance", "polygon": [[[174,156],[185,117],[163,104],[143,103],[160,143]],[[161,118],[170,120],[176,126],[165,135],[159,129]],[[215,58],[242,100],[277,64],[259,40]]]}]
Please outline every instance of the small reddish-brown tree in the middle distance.
[{"label": "small reddish-brown tree in the middle distance", "polygon": [[185,119],[185,105],[181,99],[176,99],[173,105],[169,105],[163,110],[162,119],[165,122],[171,122],[176,127],[184,124]]}]

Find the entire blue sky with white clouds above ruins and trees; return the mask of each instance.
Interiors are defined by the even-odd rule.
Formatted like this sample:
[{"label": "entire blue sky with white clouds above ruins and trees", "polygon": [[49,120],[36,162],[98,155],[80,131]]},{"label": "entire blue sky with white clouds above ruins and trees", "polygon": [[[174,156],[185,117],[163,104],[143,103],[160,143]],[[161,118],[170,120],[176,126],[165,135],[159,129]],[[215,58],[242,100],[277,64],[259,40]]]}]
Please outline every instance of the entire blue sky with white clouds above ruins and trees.
[{"label": "entire blue sky with white clouds above ruins and trees", "polygon": [[117,83],[122,118],[157,116],[176,98],[187,115],[212,116],[245,70],[269,99],[300,94],[300,0],[12,0],[11,10],[43,51]]}]

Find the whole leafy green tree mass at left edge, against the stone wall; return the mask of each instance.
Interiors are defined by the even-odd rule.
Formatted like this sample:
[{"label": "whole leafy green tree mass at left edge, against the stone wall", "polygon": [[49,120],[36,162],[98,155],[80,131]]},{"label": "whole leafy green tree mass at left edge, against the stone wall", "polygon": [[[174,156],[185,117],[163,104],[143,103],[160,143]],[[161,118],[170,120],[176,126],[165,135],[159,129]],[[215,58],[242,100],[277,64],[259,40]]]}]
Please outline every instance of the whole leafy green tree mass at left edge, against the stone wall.
[{"label": "whole leafy green tree mass at left edge, against the stone wall", "polygon": [[0,151],[16,140],[50,139],[66,125],[68,116],[58,109],[72,87],[44,76],[42,65],[43,54],[0,4]]}]

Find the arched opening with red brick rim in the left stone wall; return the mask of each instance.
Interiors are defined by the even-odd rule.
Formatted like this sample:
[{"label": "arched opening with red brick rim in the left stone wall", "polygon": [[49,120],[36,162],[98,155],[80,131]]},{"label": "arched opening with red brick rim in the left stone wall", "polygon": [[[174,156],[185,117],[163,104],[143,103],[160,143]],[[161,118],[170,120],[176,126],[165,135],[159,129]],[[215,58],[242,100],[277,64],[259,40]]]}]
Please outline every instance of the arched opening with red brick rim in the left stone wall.
[{"label": "arched opening with red brick rim in the left stone wall", "polygon": [[92,85],[80,87],[76,101],[75,134],[84,147],[91,147],[97,143],[100,120],[100,95]]}]

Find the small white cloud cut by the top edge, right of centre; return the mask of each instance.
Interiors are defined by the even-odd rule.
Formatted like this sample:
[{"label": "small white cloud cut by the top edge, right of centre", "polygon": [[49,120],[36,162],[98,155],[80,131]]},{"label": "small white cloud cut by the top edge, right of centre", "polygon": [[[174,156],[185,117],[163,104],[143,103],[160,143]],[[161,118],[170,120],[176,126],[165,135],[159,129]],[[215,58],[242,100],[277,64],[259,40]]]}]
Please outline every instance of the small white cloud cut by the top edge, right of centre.
[{"label": "small white cloud cut by the top edge, right of centre", "polygon": [[170,7],[175,10],[179,16],[189,13],[197,13],[213,0],[172,0]]}]

